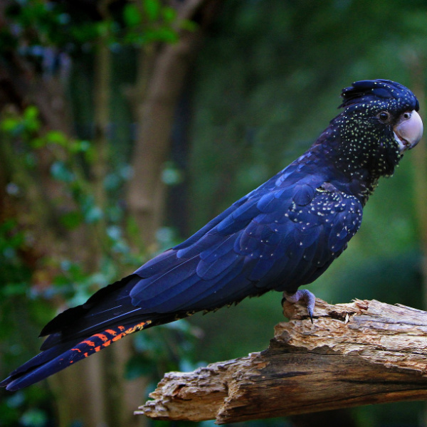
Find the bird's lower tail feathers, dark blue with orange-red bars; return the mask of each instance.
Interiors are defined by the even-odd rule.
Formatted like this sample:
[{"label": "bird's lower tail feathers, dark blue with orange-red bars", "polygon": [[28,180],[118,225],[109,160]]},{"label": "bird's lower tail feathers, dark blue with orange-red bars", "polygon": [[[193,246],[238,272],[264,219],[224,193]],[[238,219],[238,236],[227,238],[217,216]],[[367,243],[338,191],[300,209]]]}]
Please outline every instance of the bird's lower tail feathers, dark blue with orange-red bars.
[{"label": "bird's lower tail feathers, dark blue with orange-red bars", "polygon": [[108,347],[112,342],[118,341],[126,335],[154,325],[159,325],[159,322],[154,322],[153,324],[152,320],[145,320],[136,325],[120,325],[109,328],[80,342],[57,344],[39,353],[36,357],[11,372],[4,381],[1,381],[0,386],[6,386],[6,389],[10,391],[23,389],[23,387],[30,386],[81,359],[85,359],[90,354],[99,352],[104,347]]}]

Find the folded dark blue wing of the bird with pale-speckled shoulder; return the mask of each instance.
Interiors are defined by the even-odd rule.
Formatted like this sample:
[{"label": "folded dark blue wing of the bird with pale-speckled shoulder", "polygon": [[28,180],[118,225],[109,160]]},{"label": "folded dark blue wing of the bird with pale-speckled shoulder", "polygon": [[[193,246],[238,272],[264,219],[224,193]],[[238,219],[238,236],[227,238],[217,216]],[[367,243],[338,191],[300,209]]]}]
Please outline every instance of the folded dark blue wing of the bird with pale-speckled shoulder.
[{"label": "folded dark blue wing of the bird with pale-speckled shoulder", "polygon": [[132,304],[142,313],[213,310],[315,280],[356,233],[362,205],[312,176],[283,183],[253,191],[209,229],[139,268]]}]

